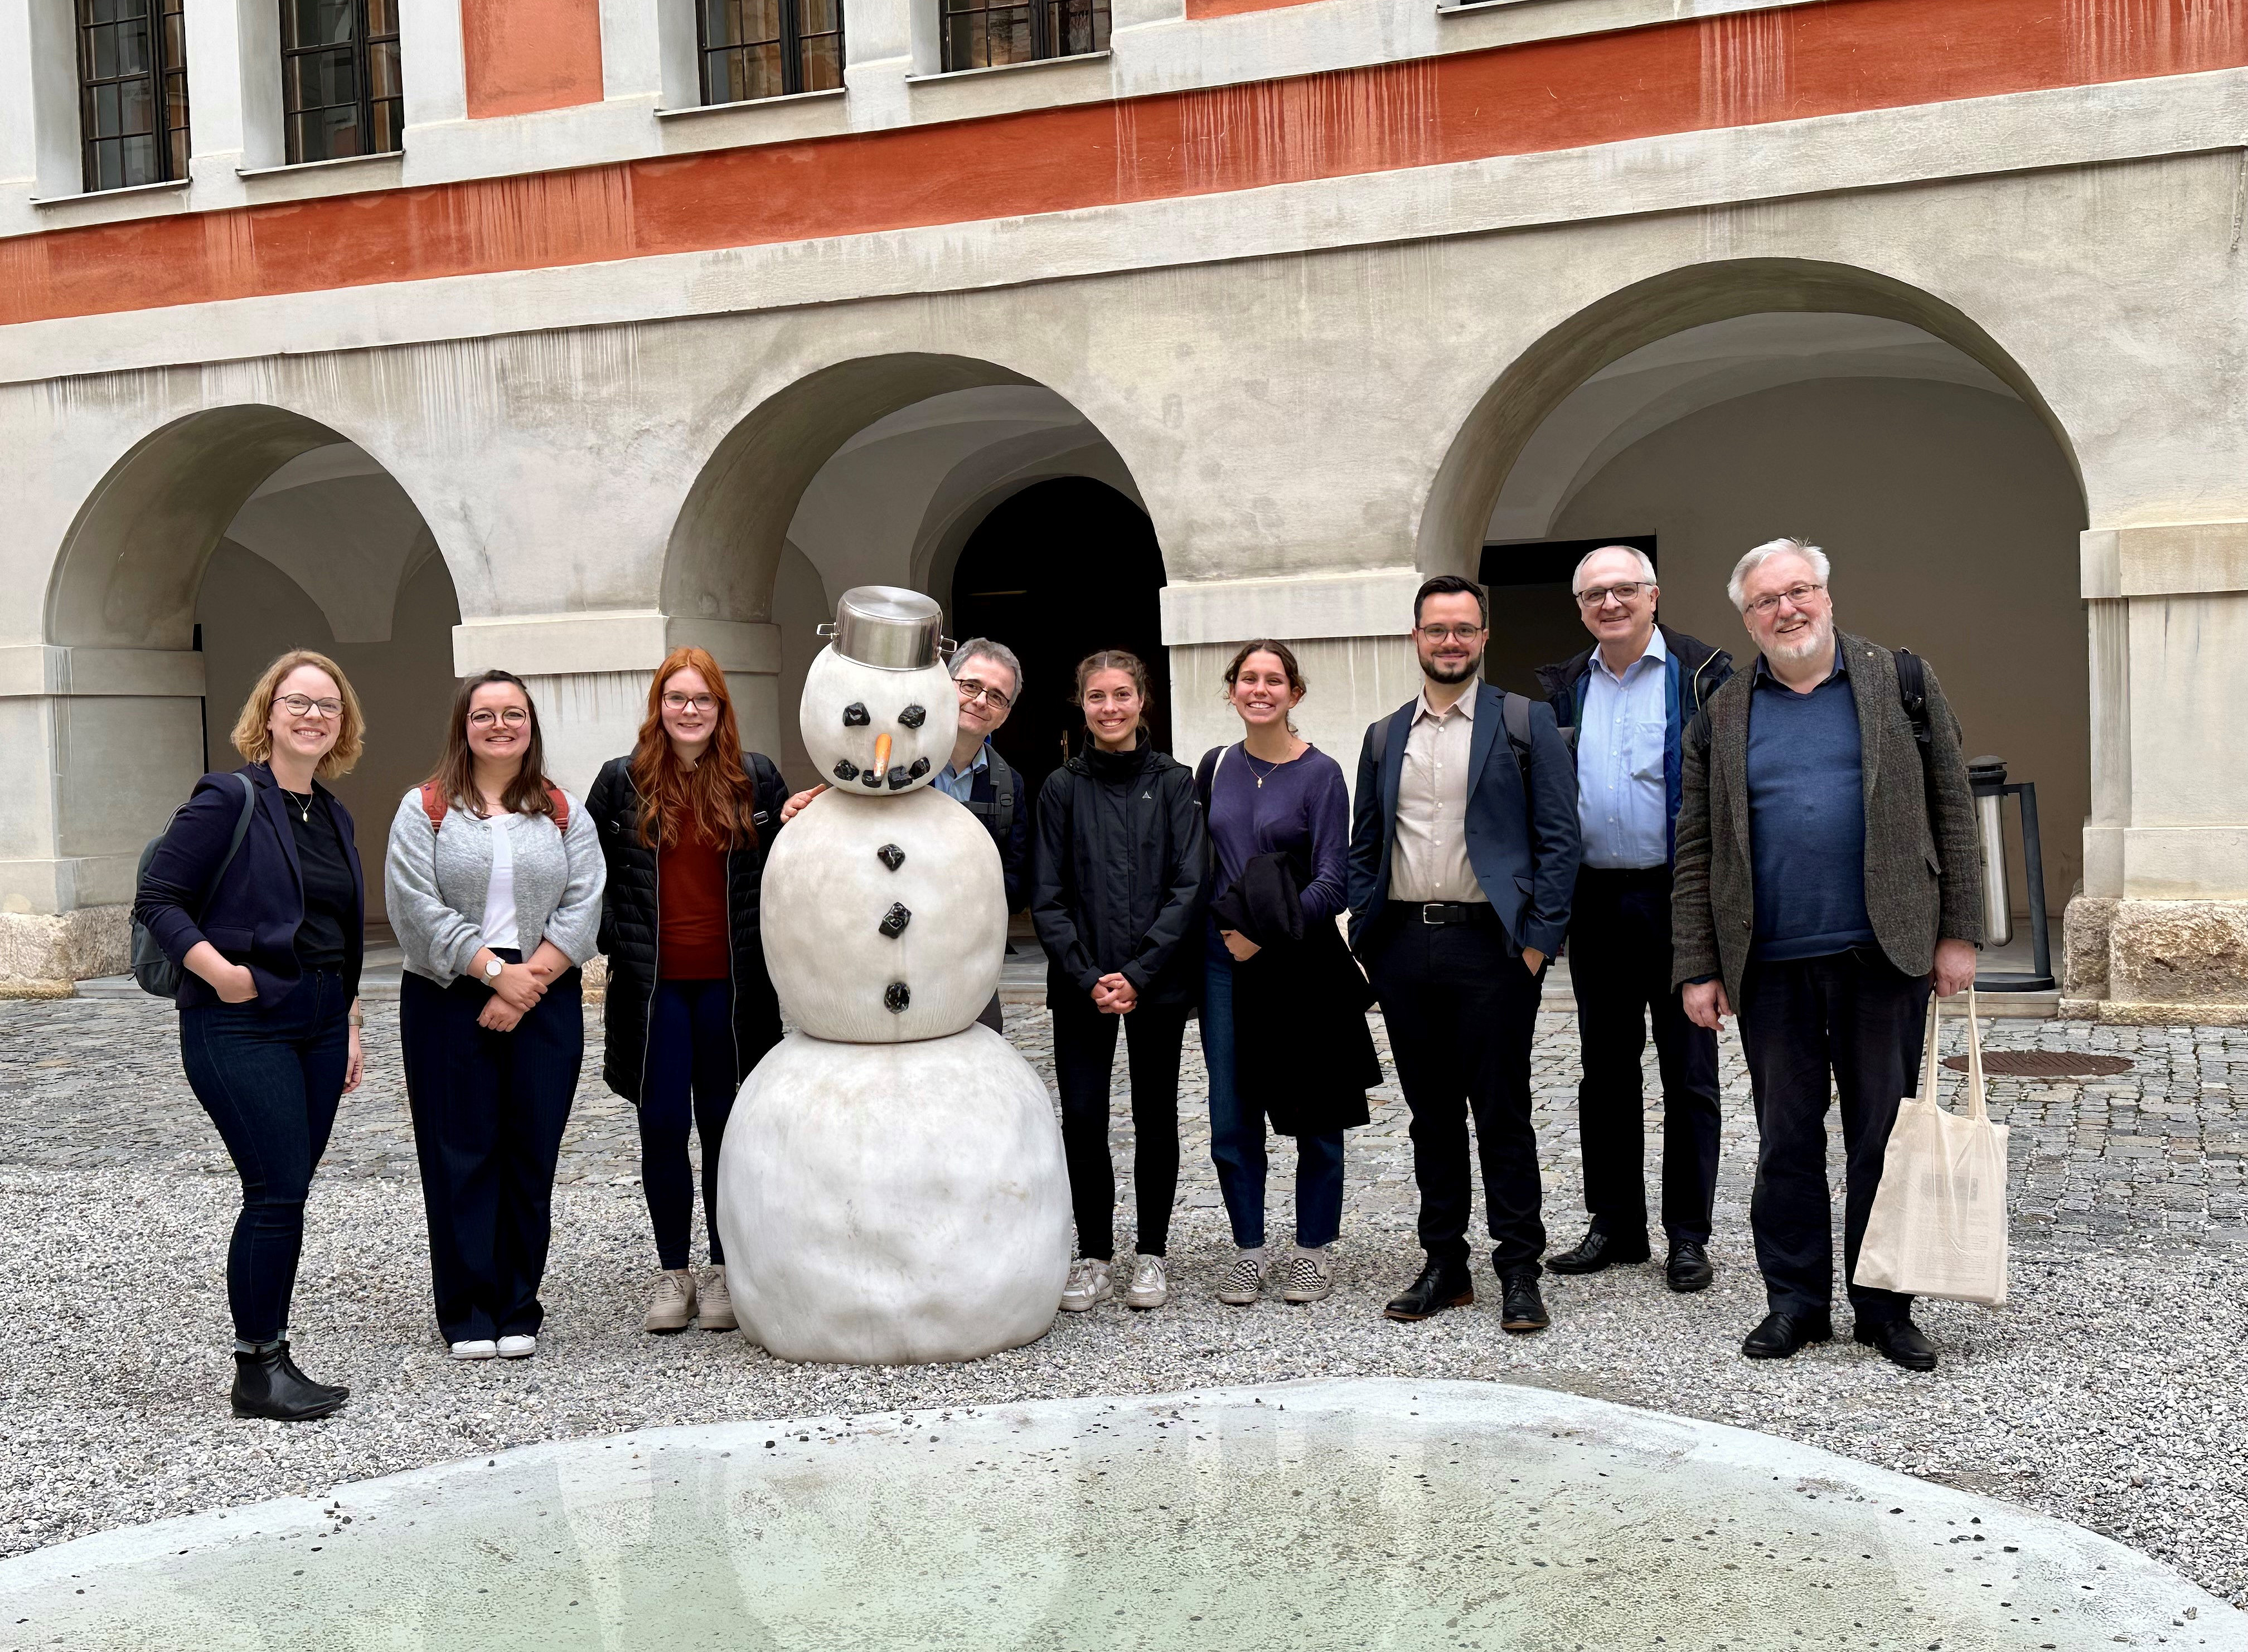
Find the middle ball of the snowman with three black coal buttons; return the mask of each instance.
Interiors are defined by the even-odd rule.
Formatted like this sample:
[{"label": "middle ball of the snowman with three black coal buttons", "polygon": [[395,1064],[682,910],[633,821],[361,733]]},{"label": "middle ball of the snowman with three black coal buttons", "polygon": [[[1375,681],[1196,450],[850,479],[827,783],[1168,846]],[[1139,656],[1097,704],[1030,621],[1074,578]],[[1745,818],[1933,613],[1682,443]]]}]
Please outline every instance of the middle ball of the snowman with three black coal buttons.
[{"label": "middle ball of the snowman with three black coal buttons", "polygon": [[949,1038],[998,991],[998,850],[973,814],[931,787],[888,798],[823,791],[773,838],[760,908],[780,1014],[814,1038]]}]

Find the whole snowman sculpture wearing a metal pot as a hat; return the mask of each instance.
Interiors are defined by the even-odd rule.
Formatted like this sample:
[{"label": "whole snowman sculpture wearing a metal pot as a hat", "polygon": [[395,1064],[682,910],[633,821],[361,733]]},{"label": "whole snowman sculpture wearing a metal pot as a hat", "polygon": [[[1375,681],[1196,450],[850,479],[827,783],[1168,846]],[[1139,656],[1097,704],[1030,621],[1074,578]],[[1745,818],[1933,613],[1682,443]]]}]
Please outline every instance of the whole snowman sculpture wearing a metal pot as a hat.
[{"label": "whole snowman sculpture wearing a metal pot as a hat", "polygon": [[830,791],[773,841],[764,962],[796,1032],[742,1086],[717,1173],[726,1281],[782,1360],[976,1360],[1045,1335],[1070,1196],[1045,1086],[976,1016],[1007,897],[928,780],[960,701],[917,591],[843,593],[805,679]]}]

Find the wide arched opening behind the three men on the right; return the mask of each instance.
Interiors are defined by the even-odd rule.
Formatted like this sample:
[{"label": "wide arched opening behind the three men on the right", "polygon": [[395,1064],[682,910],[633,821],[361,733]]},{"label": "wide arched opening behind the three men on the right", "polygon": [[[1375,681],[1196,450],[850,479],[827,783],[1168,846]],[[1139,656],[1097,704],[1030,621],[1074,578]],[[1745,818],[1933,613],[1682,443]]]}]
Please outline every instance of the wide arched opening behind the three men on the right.
[{"label": "wide arched opening behind the three men on the right", "polygon": [[[1751,659],[1724,578],[1807,535],[1837,623],[1942,677],[1971,753],[2034,780],[2046,901],[2082,874],[2091,688],[2084,492],[2034,384],[1938,299],[1861,270],[1699,265],[1549,333],[1502,375],[1443,468],[1423,553],[1493,587],[1490,677],[1589,645],[1574,555],[1650,548],[1664,620]],[[2025,913],[2021,856],[2014,908]],[[2057,937],[2055,937],[2057,942]]]}]

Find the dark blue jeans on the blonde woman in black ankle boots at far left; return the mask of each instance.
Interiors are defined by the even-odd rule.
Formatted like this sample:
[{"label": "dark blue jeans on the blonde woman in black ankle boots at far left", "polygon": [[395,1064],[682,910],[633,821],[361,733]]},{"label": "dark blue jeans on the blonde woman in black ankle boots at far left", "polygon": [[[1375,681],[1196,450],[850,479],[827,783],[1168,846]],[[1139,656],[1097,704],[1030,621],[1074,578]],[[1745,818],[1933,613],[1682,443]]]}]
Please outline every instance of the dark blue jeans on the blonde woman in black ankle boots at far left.
[{"label": "dark blue jeans on the blonde woman in black ankle boots at far left", "polygon": [[303,1252],[303,1200],[328,1151],[351,1056],[351,1000],[333,969],[306,971],[274,1009],[198,1005],[180,1011],[180,1065],[243,1178],[227,1245],[234,1335],[272,1342]]}]

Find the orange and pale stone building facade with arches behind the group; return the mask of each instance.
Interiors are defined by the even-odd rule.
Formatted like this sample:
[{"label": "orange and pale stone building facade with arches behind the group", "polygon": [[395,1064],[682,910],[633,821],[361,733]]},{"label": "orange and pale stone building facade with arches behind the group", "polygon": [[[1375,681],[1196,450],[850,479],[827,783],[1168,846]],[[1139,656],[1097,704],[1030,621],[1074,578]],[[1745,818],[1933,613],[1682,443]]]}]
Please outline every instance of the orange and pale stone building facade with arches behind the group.
[{"label": "orange and pale stone building facade with arches behind the group", "polygon": [[1293,638],[1349,766],[1427,573],[1526,686],[1583,542],[1740,650],[1805,533],[2037,782],[2070,1005],[2248,1018],[2244,207],[2248,0],[0,0],[0,982],[121,969],[288,645],[362,836],[488,665],[582,784],[701,643],[809,778],[872,580],[1041,739]]}]

